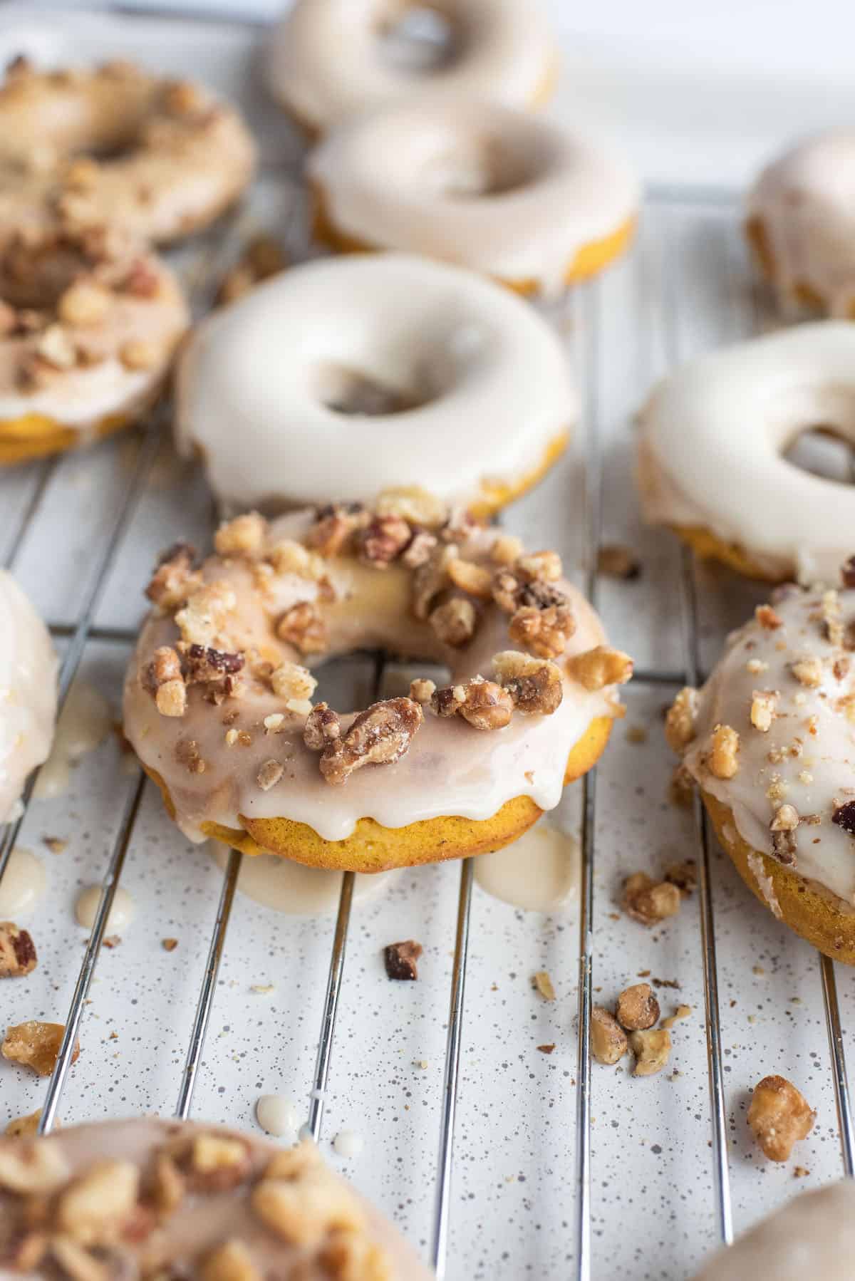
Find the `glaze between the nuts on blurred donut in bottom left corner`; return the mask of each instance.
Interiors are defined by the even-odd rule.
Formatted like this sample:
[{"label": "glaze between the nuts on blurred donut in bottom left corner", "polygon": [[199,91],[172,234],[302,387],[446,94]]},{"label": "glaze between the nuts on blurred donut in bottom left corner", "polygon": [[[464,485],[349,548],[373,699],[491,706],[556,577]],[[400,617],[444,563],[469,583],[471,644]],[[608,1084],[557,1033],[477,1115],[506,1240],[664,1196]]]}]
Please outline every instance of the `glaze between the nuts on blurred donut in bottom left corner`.
[{"label": "glaze between the nuts on blurred donut in bottom left corner", "polygon": [[[24,1144],[47,1145],[51,1154],[56,1154],[51,1167],[58,1167],[58,1177],[60,1179],[63,1173],[73,1179],[85,1177],[92,1167],[101,1162],[129,1163],[138,1172],[140,1193],[145,1196],[146,1187],[151,1186],[155,1157],[167,1150],[173,1153],[177,1149],[181,1150],[178,1145],[182,1141],[190,1146],[200,1136],[242,1143],[249,1158],[245,1177],[236,1186],[229,1187],[228,1180],[226,1180],[226,1186],[222,1190],[206,1191],[204,1187],[192,1186],[194,1175],[191,1172],[188,1176],[191,1187],[170,1213],[155,1216],[150,1209],[151,1203],[149,1203],[147,1213],[146,1207],[144,1207],[136,1230],[132,1234],[128,1232],[118,1243],[114,1241],[109,1250],[109,1263],[122,1276],[151,1276],[160,1269],[172,1267],[182,1276],[197,1277],[203,1275],[199,1268],[200,1257],[206,1255],[224,1241],[240,1241],[258,1269],[254,1275],[276,1276],[281,1281],[297,1281],[297,1277],[299,1281],[328,1281],[332,1273],[318,1257],[318,1248],[323,1246],[326,1232],[319,1234],[319,1240],[313,1240],[310,1223],[313,1216],[322,1217],[327,1207],[340,1207],[349,1212],[349,1230],[356,1244],[370,1243],[381,1248],[383,1258],[382,1263],[378,1262],[378,1267],[386,1264],[382,1276],[388,1276],[388,1281],[428,1281],[427,1269],[419,1263],[404,1237],[349,1184],[319,1161],[311,1170],[311,1186],[306,1186],[305,1203],[300,1207],[303,1223],[306,1228],[305,1241],[288,1240],[285,1235],[265,1226],[253,1208],[253,1189],[268,1163],[283,1149],[278,1144],[250,1138],[235,1130],[200,1122],[160,1121],[155,1117],[109,1121],[100,1125],[69,1126],[45,1139],[0,1139],[0,1158],[12,1158],[14,1153],[26,1153]],[[4,1164],[5,1168],[8,1167]],[[120,1182],[124,1186],[127,1175],[124,1170],[122,1173]],[[305,1176],[299,1176],[297,1182],[292,1186],[296,1187],[301,1177]],[[60,1184],[62,1187],[63,1184]],[[12,1216],[21,1202],[19,1196],[4,1191],[0,1181],[0,1220],[4,1225],[9,1222],[6,1216]],[[55,1208],[53,1213],[56,1213]],[[65,1230],[71,1232],[74,1218],[71,1209],[65,1213],[71,1218]],[[96,1236],[97,1218],[92,1216],[87,1223],[91,1226],[91,1235]],[[87,1244],[82,1230],[79,1236],[81,1244]],[[359,1250],[356,1253],[359,1254]],[[104,1252],[100,1252],[99,1258],[90,1257],[91,1266],[103,1267],[105,1257]],[[4,1281],[6,1278],[12,1281],[13,1277],[21,1277],[21,1275],[19,1269],[6,1268],[0,1262],[0,1277]],[[55,1277],[58,1269],[46,1258],[36,1268],[27,1269],[26,1275]]]}]

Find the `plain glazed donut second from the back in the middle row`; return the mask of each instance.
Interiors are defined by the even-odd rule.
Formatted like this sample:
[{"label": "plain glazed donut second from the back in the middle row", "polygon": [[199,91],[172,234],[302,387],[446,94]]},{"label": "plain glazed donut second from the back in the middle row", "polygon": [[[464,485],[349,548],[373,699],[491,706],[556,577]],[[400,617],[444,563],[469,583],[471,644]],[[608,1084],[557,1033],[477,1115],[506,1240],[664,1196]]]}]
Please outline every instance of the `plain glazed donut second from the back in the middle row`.
[{"label": "plain glazed donut second from the back in the middle row", "polygon": [[394,104],[344,123],[308,164],[314,232],[555,293],[626,247],[638,191],[618,158],[550,120],[486,102]]}]

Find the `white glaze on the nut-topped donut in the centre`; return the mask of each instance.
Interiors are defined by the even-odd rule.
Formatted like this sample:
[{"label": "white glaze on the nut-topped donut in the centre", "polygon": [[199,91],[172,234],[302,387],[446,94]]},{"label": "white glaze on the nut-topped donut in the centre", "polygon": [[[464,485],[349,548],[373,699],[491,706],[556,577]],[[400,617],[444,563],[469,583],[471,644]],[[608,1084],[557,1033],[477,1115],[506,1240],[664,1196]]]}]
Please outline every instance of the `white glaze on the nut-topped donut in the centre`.
[{"label": "white glaze on the nut-topped donut in the centre", "polygon": [[[281,518],[270,525],[269,537],[299,538],[310,519],[309,514]],[[496,537],[495,530],[481,530],[461,546],[460,555],[483,559]],[[450,649],[438,642],[428,624],[411,616],[408,570],[391,565],[381,573],[353,557],[332,559],[329,566],[340,598],[323,608],[329,629],[327,656],[356,647],[423,656],[428,661],[447,662],[451,681],[458,683],[474,674],[490,676],[492,656],[509,648],[508,615],[497,606],[485,607],[474,638],[463,649]],[[206,582],[228,583],[237,594],[245,634],[241,648],[254,644],[263,653],[270,653],[270,661],[277,661],[274,646],[279,651],[278,661],[295,660],[285,642],[272,640],[270,621],[295,598],[306,598],[305,580],[295,583],[282,576],[274,598],[265,602],[245,561],[212,559],[204,576]],[[317,584],[311,585],[317,589]],[[556,585],[567,592],[577,621],[565,656],[601,644],[602,626],[587,601],[568,583]],[[295,592],[300,594],[295,597]],[[126,681],[124,731],[142,763],[164,780],[178,825],[196,842],[204,839],[200,830],[204,822],[240,829],[238,815],[287,817],[308,824],[326,840],[344,840],[361,817],[374,819],[387,828],[441,815],[483,820],[518,796],[532,797],[542,810],[551,810],[561,796],[570,748],[595,717],[615,714],[614,687],[587,692],[565,676],[561,705],[550,716],[515,715],[504,729],[479,731],[460,717],[440,719],[428,714],[399,761],[359,770],[342,787],[333,788],[318,770],[317,753],[304,746],[305,715],[286,711],[281,733],[264,733],[264,719],[283,711],[282,698],[264,685],[249,685],[235,703],[237,719],[229,721],[229,726],[251,735],[251,743],[245,747],[226,746],[223,715],[227,708],[206,702],[199,685],[188,688],[183,716],[162,716],[145,688],[142,673],[154,649],[173,644],[177,635],[176,624],[168,616],[151,615],[144,625]],[[353,715],[342,716],[342,734]],[[192,772],[181,762],[179,744],[188,739],[205,761],[204,772]],[[265,792],[256,779],[270,757],[282,761],[286,772]]]}]

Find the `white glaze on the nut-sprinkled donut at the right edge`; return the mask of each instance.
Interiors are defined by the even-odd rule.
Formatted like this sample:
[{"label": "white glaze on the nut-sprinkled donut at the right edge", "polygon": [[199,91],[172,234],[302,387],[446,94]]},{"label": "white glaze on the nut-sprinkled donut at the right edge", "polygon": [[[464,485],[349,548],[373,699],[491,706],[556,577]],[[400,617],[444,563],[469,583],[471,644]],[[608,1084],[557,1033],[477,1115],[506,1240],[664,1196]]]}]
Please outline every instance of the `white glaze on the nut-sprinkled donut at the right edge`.
[{"label": "white glaze on the nut-sprinkled donut at the right edge", "polygon": [[[855,591],[840,591],[837,605],[849,637]],[[696,738],[683,762],[705,792],[732,810],[740,836],[752,849],[774,853],[769,824],[778,806],[795,806],[802,820],[795,830],[795,871],[855,906],[855,836],[832,822],[836,806],[855,796],[855,720],[847,702],[855,694],[855,657],[826,638],[822,591],[793,589],[773,610],[779,626],[754,619],[729,638],[700,693]],[[804,684],[791,670],[802,658],[818,660],[818,685]],[[751,724],[755,690],[778,694],[768,730]],[[715,778],[706,760],[719,724],[740,735],[738,769],[731,779]],[[751,871],[776,911],[760,860]]]}]

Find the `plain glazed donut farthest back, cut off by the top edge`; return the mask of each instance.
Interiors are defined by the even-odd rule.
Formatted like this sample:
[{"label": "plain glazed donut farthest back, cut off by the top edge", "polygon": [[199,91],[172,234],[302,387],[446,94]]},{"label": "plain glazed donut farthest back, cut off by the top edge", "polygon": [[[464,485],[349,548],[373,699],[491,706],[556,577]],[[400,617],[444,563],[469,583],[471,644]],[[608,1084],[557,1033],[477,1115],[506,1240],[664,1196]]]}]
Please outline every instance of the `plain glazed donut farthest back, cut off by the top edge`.
[{"label": "plain glazed donut farthest back, cut off by the top edge", "polygon": [[296,0],[267,50],[267,85],[310,133],[354,111],[413,94],[537,106],[551,95],[555,42],[540,0],[436,0],[450,27],[447,56],[411,67],[382,38],[409,0]]}]

